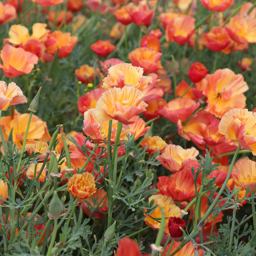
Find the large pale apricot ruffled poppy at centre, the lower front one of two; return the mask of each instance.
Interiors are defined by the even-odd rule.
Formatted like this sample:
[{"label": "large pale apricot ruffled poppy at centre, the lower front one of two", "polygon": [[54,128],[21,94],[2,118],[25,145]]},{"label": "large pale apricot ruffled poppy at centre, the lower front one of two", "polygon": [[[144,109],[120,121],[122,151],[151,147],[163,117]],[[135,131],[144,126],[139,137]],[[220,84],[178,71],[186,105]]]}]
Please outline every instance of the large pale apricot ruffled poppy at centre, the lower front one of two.
[{"label": "large pale apricot ruffled poppy at centre, the lower front one of two", "polygon": [[147,104],[142,101],[143,93],[133,86],[111,88],[105,91],[95,106],[95,116],[99,121],[118,120],[127,125],[133,116],[145,111]]}]

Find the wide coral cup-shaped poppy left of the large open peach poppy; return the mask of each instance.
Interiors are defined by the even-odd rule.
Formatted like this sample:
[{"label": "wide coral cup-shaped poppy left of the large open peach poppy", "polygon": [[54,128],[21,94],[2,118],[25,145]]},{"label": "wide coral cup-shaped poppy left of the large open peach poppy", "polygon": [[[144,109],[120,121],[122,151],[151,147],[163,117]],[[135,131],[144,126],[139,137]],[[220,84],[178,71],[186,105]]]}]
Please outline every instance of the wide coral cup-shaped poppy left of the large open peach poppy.
[{"label": "wide coral cup-shaped poppy left of the large open peach poppy", "polygon": [[199,106],[199,102],[195,102],[189,98],[176,98],[160,109],[159,114],[173,123],[177,123],[178,120],[184,122],[198,109]]}]

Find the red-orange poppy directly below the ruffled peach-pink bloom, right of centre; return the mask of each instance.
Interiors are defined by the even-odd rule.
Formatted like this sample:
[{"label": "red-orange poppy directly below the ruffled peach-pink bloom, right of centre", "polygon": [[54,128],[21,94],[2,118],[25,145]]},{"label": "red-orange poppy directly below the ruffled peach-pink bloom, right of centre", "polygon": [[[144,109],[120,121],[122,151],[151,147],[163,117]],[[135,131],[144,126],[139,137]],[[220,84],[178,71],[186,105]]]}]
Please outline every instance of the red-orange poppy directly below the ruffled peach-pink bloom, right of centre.
[{"label": "red-orange poppy directly below the ruffled peach-pink bloom, right of centre", "polygon": [[[157,188],[160,190],[160,194],[167,195],[173,199],[183,202],[196,197],[194,178],[191,170],[178,171],[171,175],[171,177],[160,176],[159,182],[156,183]],[[200,186],[197,185],[199,191]]]}]

